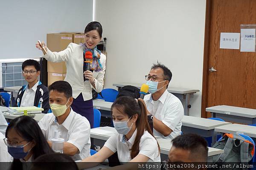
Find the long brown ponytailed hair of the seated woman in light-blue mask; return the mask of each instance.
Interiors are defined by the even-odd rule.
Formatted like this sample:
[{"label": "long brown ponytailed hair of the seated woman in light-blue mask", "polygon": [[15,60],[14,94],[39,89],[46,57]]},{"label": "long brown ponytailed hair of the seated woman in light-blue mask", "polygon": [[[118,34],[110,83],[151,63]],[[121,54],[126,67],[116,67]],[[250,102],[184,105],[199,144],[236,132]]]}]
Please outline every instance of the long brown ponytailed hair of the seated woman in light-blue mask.
[{"label": "long brown ponytailed hair of the seated woman in light-blue mask", "polygon": [[[140,100],[138,100],[137,102],[134,98],[130,96],[122,96],[117,98],[111,106],[111,114],[114,107],[119,110],[119,112],[128,115],[129,118],[131,118],[133,115],[138,114],[138,118],[136,121],[137,135],[135,137],[134,144],[131,147],[131,158],[133,159],[140,152],[140,138],[144,134],[144,131],[147,130],[148,133],[150,133],[154,137],[153,132],[151,131],[148,124],[146,108]],[[160,147],[158,142],[157,145],[160,153]]]}]

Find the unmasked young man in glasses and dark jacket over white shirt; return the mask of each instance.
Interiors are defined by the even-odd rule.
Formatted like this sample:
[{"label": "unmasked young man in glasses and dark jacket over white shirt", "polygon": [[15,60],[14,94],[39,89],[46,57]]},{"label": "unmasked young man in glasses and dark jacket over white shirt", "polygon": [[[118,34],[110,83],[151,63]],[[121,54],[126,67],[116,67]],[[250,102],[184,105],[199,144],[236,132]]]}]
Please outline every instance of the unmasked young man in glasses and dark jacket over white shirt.
[{"label": "unmasked young man in glasses and dark jacket over white shirt", "polygon": [[48,88],[38,81],[40,64],[35,60],[26,60],[22,63],[22,73],[27,85],[22,86],[17,95],[17,107],[36,106],[43,108],[43,113],[49,111]]}]

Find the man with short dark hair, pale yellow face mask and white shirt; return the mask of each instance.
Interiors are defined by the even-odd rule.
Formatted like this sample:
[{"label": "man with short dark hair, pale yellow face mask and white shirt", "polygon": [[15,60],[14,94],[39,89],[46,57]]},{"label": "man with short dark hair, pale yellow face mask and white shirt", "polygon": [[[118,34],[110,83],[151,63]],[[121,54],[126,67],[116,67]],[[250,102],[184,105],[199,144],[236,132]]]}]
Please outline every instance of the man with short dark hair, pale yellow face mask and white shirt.
[{"label": "man with short dark hair, pale yellow face mask and white shirt", "polygon": [[70,107],[72,88],[67,81],[55,81],[49,87],[49,103],[52,113],[39,121],[39,126],[49,145],[55,130],[64,138],[63,152],[77,161],[90,156],[90,123]]}]

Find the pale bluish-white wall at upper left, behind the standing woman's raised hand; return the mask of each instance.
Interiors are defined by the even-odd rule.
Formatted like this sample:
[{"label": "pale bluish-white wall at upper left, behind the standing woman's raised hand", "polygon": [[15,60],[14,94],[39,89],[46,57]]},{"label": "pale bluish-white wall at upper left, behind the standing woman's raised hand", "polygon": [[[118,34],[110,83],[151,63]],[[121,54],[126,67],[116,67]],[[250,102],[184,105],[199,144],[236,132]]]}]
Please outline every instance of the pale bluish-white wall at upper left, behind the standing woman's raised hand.
[{"label": "pale bluish-white wall at upper left, behind the standing woman's raised hand", "polygon": [[84,32],[92,20],[93,0],[2,0],[0,59],[37,58],[47,33]]}]

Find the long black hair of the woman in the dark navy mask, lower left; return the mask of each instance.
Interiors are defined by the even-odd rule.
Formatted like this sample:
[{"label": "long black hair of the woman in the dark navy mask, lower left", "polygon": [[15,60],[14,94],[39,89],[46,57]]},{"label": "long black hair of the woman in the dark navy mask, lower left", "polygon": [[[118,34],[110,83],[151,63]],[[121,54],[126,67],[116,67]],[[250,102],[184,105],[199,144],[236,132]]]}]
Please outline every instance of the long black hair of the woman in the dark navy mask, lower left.
[{"label": "long black hair of the woman in the dark navy mask, lower left", "polygon": [[[47,143],[47,140],[45,139],[41,128],[33,118],[29,116],[20,116],[13,119],[6,129],[6,138],[8,136],[9,130],[11,129],[15,129],[16,132],[22,138],[24,138],[24,140],[33,141],[35,143],[35,146],[31,150],[33,153],[32,158],[34,160],[41,155],[54,153],[52,148]],[[15,162],[19,162],[19,159],[14,159],[14,163]],[[15,166],[15,164],[12,164],[12,167],[13,166]]]}]

